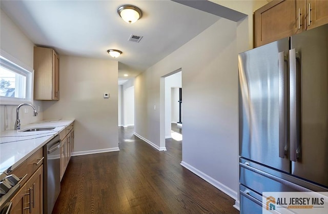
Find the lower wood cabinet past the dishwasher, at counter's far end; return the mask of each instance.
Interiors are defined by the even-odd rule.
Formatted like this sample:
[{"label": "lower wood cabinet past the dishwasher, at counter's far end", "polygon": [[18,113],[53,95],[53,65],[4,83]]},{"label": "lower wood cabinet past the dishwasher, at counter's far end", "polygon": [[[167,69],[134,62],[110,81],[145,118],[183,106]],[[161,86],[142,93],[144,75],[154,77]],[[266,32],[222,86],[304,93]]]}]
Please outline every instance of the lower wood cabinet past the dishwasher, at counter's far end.
[{"label": "lower wood cabinet past the dishwasher, at counter's far end", "polygon": [[73,123],[59,133],[60,147],[60,180],[63,178],[67,165],[71,159],[74,148],[74,125]]}]

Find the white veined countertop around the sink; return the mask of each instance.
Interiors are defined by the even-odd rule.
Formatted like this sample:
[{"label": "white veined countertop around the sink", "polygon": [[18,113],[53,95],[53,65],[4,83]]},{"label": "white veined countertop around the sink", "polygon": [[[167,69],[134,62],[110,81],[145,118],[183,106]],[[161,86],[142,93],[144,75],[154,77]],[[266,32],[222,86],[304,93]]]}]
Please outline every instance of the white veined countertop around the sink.
[{"label": "white veined countertop around the sink", "polygon": [[[15,169],[54,136],[74,122],[71,120],[40,121],[20,127],[20,131],[8,130],[0,133],[0,173]],[[48,131],[29,131],[31,128],[50,128]]]}]

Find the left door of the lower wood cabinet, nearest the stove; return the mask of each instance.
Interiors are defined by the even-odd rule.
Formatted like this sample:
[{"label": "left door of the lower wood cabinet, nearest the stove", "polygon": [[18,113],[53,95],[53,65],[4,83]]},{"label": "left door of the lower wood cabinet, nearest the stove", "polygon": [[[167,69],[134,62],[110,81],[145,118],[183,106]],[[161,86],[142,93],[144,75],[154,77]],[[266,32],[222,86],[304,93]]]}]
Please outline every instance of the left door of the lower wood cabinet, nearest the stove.
[{"label": "left door of the lower wood cabinet, nearest the stove", "polygon": [[29,212],[29,204],[26,198],[29,197],[29,191],[26,191],[26,184],[24,184],[18,193],[11,199],[12,208],[10,213],[22,214]]}]

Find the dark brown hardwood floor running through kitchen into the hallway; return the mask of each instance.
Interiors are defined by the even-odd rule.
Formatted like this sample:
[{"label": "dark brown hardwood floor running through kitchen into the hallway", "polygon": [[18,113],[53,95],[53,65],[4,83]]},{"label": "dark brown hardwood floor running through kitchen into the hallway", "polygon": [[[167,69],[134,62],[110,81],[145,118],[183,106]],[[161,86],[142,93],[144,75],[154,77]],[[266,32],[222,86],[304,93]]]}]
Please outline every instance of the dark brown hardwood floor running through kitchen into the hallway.
[{"label": "dark brown hardwood floor running through kitchen into the hallway", "polygon": [[157,151],[119,127],[119,152],[71,158],[53,213],[239,213],[180,165],[181,145],[170,138],[168,151]]}]

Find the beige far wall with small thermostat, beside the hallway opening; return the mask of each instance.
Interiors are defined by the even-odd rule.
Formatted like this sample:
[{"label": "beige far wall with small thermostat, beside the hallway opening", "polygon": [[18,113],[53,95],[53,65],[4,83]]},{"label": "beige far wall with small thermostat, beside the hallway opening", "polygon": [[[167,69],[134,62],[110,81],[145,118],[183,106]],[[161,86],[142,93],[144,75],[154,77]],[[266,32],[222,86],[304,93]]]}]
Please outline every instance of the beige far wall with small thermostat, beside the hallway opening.
[{"label": "beige far wall with small thermostat, beside the hallway opening", "polygon": [[60,100],[44,103],[44,118],[75,118],[73,155],[117,151],[118,62],[60,56],[59,73]]}]

